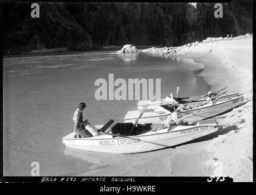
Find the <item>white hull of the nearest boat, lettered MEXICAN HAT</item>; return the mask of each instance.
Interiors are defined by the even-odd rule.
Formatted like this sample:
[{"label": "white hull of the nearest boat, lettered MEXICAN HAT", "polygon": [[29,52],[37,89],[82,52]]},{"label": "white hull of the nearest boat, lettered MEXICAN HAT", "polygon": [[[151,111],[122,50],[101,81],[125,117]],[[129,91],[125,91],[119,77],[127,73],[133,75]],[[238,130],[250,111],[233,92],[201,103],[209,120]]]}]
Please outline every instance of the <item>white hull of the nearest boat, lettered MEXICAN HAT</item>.
[{"label": "white hull of the nearest boat, lettered MEXICAN HAT", "polygon": [[167,129],[161,129],[156,132],[152,131],[131,137],[112,138],[112,136],[99,135],[97,137],[79,139],[73,138],[71,133],[63,138],[63,143],[67,147],[88,151],[132,154],[176,146],[204,137],[217,130],[216,124],[187,127],[174,126],[169,132],[167,132]]}]

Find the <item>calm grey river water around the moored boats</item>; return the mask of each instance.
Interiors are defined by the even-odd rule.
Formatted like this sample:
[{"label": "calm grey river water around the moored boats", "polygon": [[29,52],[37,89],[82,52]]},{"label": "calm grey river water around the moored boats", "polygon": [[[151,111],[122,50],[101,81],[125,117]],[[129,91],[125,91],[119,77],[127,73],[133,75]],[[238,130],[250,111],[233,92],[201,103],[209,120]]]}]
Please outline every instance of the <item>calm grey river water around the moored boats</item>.
[{"label": "calm grey river water around the moored boats", "polygon": [[[97,101],[95,80],[161,79],[161,96],[204,94],[207,83],[198,75],[203,66],[191,60],[153,54],[84,52],[4,59],[4,176],[74,176],[125,160],[126,155],[97,154],[65,148],[62,137],[73,129],[73,113],[86,102],[84,118],[92,124],[123,121],[137,101]],[[117,87],[115,87],[117,88]],[[139,157],[136,154],[133,157]]]}]

